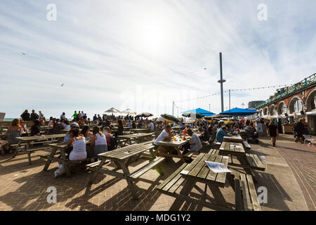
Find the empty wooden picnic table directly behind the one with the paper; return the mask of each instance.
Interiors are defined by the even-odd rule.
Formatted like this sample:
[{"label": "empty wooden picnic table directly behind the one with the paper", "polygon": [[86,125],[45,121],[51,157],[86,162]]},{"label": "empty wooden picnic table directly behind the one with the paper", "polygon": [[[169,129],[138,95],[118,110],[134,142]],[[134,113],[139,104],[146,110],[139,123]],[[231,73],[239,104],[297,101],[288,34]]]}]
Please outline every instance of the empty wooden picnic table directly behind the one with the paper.
[{"label": "empty wooden picnic table directly behind the one with the paper", "polygon": [[[244,150],[244,146],[242,143],[235,143],[235,142],[223,142],[220,145],[220,153],[223,155],[230,155],[235,156],[239,161],[240,165],[237,165],[233,162],[230,162],[229,165],[234,165],[237,167],[243,167],[247,174],[254,175],[251,172],[251,169],[257,169],[264,171],[265,165],[259,160],[258,156],[255,154],[246,153]],[[254,179],[256,182],[256,179]]]}]

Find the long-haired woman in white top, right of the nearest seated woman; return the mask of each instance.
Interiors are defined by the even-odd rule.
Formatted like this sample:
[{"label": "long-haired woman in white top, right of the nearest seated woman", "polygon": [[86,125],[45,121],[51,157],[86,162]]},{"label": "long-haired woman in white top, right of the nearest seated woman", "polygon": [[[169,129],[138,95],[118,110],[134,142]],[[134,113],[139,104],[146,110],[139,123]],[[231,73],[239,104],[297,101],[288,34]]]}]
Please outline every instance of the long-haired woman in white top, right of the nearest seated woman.
[{"label": "long-haired woman in white top, right of the nearest seated woman", "polygon": [[94,146],[93,155],[97,159],[98,154],[107,152],[107,139],[98,126],[93,127],[92,134],[90,146]]}]

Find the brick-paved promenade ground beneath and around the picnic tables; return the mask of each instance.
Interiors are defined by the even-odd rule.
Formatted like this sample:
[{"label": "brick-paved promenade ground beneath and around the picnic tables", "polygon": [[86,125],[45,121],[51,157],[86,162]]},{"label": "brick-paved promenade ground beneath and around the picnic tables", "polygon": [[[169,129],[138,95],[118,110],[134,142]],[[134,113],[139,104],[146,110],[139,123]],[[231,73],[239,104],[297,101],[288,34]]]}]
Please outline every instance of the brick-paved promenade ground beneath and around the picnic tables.
[{"label": "brick-paved promenade ground beneath and around the picnic tables", "polygon": [[[277,147],[272,147],[268,137],[261,138],[259,145],[251,145],[253,153],[264,156],[267,163],[265,172],[256,172],[259,186],[268,189],[268,203],[263,210],[315,210],[315,162],[316,148],[294,143],[289,135],[281,135]],[[209,149],[204,146],[204,152]],[[40,152],[39,152],[40,153]],[[0,156],[0,210],[170,210],[175,198],[159,193],[154,188],[180,167],[179,160],[164,162],[164,176],[151,169],[136,184],[139,200],[131,198],[126,181],[113,176],[100,175],[96,182],[88,186],[91,174],[82,170],[72,177],[53,177],[57,163],[51,170],[43,172],[44,161],[35,153],[32,165],[27,163],[27,155]],[[138,160],[131,165],[131,172],[145,165],[147,161]],[[112,169],[114,165],[107,165]],[[47,203],[47,188],[57,190],[57,203]],[[199,188],[204,186],[198,184]],[[228,205],[235,204],[235,193],[228,185],[220,188]],[[212,198],[213,203],[222,200]],[[192,196],[202,198],[193,189]],[[173,205],[173,207],[175,207]],[[223,210],[220,207],[206,208],[183,203],[176,210]]]}]

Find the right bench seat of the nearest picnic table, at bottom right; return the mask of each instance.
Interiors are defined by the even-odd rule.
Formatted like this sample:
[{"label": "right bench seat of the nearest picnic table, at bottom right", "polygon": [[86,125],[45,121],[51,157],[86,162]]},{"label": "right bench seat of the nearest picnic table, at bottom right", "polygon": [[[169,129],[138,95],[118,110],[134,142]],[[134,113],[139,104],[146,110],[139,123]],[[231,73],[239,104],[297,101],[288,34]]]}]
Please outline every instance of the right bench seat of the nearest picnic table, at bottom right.
[{"label": "right bench seat of the nearest picnic table, at bottom right", "polygon": [[235,173],[235,205],[237,211],[261,211],[254,181],[249,174]]}]

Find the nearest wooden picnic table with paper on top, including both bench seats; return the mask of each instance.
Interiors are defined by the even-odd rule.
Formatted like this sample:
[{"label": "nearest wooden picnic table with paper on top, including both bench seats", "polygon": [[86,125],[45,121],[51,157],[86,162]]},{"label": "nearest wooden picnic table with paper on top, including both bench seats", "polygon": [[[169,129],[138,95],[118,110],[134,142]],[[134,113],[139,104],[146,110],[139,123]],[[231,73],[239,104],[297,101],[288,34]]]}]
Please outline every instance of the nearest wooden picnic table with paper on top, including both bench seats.
[{"label": "nearest wooden picnic table with paper on top, including both bench seats", "polygon": [[[231,209],[230,205],[225,202],[225,198],[219,189],[220,187],[225,187],[226,178],[235,191],[235,210],[261,210],[256,188],[250,175],[239,174],[237,172],[233,174],[214,173],[206,166],[205,161],[223,163],[228,167],[228,157],[219,155],[217,150],[212,150],[211,153],[199,154],[190,164],[184,163],[176,172],[173,172],[173,174],[165,179],[162,184],[157,186],[158,191],[176,198],[170,210],[178,210],[175,207],[182,205],[184,200],[206,207],[219,205],[225,207],[225,209]],[[205,184],[204,190],[196,185],[197,182]],[[183,185],[183,188],[179,190],[181,185]],[[213,199],[220,200],[221,203],[213,203],[213,199],[209,198],[206,194],[207,187],[211,189]],[[190,196],[192,188],[195,188],[202,194],[202,199]],[[210,202],[206,202],[206,198]]]}]

